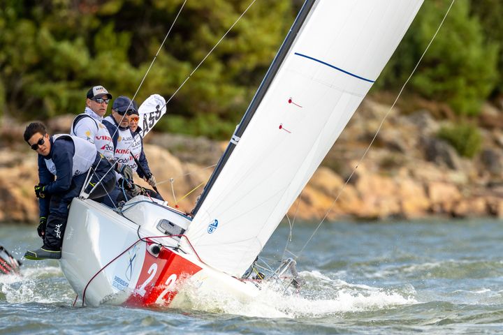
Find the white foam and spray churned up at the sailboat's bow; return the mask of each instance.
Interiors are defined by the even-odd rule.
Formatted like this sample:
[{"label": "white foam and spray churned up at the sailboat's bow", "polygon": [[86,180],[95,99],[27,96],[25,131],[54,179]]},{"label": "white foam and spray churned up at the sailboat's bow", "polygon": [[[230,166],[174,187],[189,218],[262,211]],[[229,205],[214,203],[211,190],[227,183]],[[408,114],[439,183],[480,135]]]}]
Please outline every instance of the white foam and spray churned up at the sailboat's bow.
[{"label": "white foam and spray churned up at the sailboat's bow", "polygon": [[411,287],[395,290],[355,285],[319,271],[304,271],[300,276],[306,281],[300,292],[285,294],[275,285],[265,285],[254,299],[236,299],[223,290],[202,295],[189,280],[178,293],[183,301],[174,301],[172,307],[259,318],[321,318],[417,303]]}]

